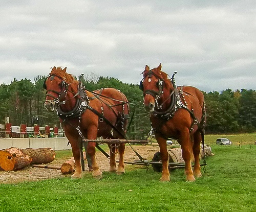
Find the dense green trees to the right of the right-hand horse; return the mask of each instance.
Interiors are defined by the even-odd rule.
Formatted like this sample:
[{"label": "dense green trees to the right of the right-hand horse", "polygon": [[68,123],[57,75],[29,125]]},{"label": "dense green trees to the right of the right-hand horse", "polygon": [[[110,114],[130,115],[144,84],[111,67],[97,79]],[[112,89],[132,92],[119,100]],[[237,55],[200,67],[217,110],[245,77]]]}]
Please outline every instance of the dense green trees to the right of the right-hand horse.
[{"label": "dense green trees to the right of the right-hand horse", "polygon": [[256,129],[255,90],[205,93],[207,113],[206,132],[238,133]]}]

